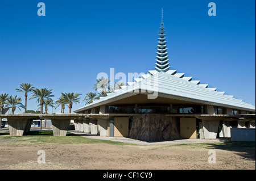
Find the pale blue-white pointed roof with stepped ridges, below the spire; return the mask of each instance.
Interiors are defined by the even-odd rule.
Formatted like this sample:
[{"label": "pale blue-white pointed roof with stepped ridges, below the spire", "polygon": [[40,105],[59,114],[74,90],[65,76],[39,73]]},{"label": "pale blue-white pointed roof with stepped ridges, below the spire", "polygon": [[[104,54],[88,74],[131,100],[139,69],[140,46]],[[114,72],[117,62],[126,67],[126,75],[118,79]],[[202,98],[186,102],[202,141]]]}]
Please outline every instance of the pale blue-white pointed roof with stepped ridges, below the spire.
[{"label": "pale blue-white pointed roof with stepped ridges, below the spire", "polygon": [[[197,104],[208,104],[212,106],[228,107],[239,110],[255,111],[255,106],[245,103],[233,96],[225,95],[224,92],[216,91],[216,88],[208,88],[200,84],[200,81],[193,81],[192,77],[184,77],[183,73],[176,70],[156,71],[150,70],[142,78],[129,82],[129,86],[122,86],[122,89],[109,93],[108,96],[94,100],[74,112],[88,110],[104,104],[130,98],[131,96],[145,94],[147,99],[166,98],[180,100]],[[136,104],[134,102],[134,104]]]}]

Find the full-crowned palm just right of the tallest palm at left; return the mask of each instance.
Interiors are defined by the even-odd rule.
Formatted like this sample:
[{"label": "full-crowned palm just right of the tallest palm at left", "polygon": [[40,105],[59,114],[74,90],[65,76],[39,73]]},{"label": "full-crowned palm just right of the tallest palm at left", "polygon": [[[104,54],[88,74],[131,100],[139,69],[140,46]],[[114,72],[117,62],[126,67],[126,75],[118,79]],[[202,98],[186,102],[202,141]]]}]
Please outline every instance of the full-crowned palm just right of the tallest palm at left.
[{"label": "full-crowned palm just right of the tallest palm at left", "polygon": [[51,102],[53,102],[53,100],[51,99],[51,97],[53,97],[54,95],[52,95],[52,89],[34,89],[32,90],[33,94],[32,97],[30,99],[35,99],[37,98],[36,102],[40,103],[40,113],[43,113],[43,104],[44,104],[44,100],[49,99],[51,100]]}]

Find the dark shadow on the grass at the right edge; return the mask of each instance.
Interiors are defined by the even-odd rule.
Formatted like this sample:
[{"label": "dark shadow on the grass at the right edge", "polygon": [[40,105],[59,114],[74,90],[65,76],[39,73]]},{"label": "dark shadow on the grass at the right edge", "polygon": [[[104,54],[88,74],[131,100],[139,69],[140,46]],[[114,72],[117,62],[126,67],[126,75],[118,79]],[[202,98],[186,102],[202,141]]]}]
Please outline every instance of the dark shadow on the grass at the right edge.
[{"label": "dark shadow on the grass at the right edge", "polygon": [[255,141],[229,141],[221,144],[208,144],[209,149],[234,151],[244,159],[255,161]]}]

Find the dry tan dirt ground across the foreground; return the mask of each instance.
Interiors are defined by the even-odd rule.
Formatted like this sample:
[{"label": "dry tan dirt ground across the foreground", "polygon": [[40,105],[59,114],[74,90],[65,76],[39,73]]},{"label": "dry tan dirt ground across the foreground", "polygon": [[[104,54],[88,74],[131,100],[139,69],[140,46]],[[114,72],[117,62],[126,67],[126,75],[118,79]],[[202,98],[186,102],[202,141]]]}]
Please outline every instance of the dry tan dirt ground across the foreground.
[{"label": "dry tan dirt ground across the foreground", "polygon": [[[29,139],[29,138],[24,138]],[[38,150],[46,163],[38,163]],[[209,150],[216,163],[209,163]],[[0,145],[0,169],[254,169],[255,148],[218,145],[24,144]]]}]

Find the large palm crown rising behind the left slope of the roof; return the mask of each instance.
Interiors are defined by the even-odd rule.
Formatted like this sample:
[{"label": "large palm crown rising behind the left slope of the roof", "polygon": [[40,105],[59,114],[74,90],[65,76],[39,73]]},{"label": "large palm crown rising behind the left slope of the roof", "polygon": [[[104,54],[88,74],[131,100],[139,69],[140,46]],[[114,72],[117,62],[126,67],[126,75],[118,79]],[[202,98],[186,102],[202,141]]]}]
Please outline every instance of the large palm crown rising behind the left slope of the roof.
[{"label": "large palm crown rising behind the left slope of the roof", "polygon": [[96,81],[93,89],[97,90],[101,96],[106,96],[106,93],[113,91],[113,87],[109,85],[110,80],[108,78],[100,78]]}]

